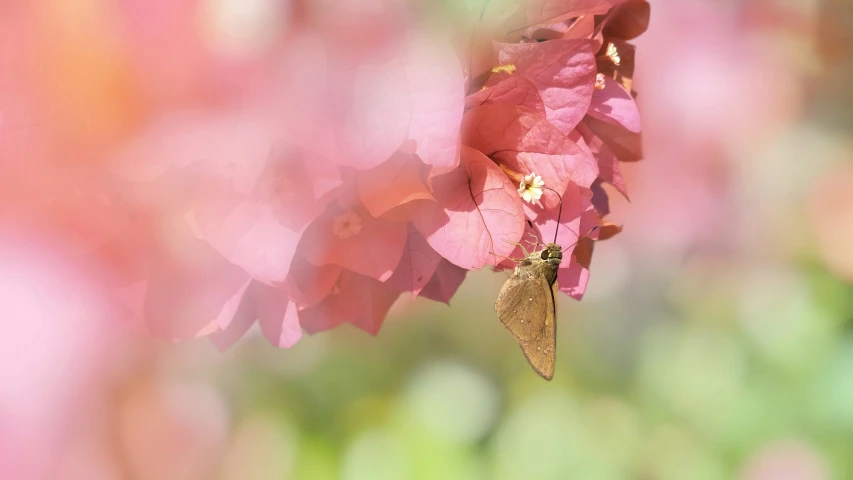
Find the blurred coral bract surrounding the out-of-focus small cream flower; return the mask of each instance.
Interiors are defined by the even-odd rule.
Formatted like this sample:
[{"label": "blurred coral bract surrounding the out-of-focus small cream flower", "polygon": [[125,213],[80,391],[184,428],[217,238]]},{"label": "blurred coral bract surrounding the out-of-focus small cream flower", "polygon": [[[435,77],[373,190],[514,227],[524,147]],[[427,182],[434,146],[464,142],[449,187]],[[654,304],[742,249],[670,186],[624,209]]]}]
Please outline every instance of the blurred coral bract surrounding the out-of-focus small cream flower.
[{"label": "blurred coral bract surrounding the out-of-focus small cream flower", "polygon": [[[349,213],[361,222],[358,233],[349,237],[336,234],[335,219]],[[338,265],[384,281],[400,262],[406,236],[405,223],[374,218],[360,206],[343,209],[334,204],[306,229],[300,248],[314,265]]]}]

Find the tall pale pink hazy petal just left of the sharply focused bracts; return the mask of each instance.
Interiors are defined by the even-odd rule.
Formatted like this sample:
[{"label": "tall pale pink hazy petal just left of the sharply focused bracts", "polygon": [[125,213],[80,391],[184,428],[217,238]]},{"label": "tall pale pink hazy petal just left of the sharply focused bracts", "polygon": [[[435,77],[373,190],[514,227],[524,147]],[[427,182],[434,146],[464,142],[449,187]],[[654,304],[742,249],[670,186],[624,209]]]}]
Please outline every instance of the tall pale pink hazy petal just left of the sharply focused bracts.
[{"label": "tall pale pink hazy petal just left of the sharply focused bracts", "polygon": [[408,138],[424,163],[444,173],[459,163],[465,78],[452,46],[435,37],[411,35],[403,65],[412,96]]}]

